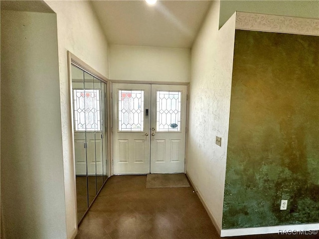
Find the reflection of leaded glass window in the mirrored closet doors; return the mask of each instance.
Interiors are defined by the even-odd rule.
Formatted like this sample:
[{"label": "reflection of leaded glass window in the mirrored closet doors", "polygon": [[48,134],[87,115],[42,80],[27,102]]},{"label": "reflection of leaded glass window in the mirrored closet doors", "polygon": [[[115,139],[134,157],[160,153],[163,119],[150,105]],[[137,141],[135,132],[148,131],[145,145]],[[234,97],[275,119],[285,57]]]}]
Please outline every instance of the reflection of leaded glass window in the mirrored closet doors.
[{"label": "reflection of leaded glass window in the mirrored closet doors", "polygon": [[73,90],[75,131],[100,131],[100,91]]}]

